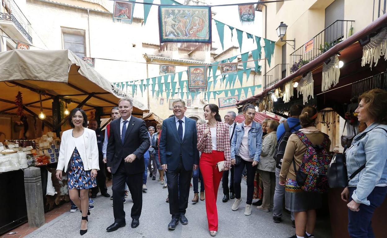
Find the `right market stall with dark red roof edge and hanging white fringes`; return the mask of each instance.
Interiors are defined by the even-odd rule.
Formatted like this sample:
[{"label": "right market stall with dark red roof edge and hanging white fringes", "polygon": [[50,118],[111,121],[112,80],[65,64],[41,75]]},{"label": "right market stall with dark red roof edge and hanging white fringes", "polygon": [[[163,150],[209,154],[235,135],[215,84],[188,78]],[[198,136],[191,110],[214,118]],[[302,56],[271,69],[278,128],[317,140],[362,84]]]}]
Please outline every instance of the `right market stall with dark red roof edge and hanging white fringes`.
[{"label": "right market stall with dark red roof edge and hanging white fringes", "polygon": [[[384,14],[262,93],[241,100],[237,105],[253,103],[260,110],[274,113],[289,111],[294,104],[316,106],[319,110],[317,127],[330,136],[331,152],[338,152],[342,135],[339,127],[344,124],[340,121],[347,122],[345,129],[348,135],[353,135],[353,128],[358,123],[354,116],[358,96],[373,88],[387,90],[386,35],[387,14]],[[341,201],[341,191],[330,189],[325,200],[329,209],[320,212],[329,211],[334,237],[349,237],[348,208]],[[372,226],[376,237],[385,236],[386,213],[387,200],[373,215]]]}]

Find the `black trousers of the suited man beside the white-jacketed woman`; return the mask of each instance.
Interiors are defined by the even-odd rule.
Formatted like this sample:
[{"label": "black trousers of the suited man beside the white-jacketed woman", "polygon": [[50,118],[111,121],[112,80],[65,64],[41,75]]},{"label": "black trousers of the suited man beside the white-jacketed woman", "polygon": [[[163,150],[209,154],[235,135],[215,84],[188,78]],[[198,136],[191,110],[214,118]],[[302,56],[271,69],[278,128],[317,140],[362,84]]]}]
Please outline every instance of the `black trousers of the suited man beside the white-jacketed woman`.
[{"label": "black trousers of the suited man beside the white-jacketed woman", "polygon": [[130,216],[132,219],[139,219],[142,209],[142,176],[138,174],[128,174],[122,160],[115,174],[113,174],[113,213],[114,222],[125,223],[125,211],[123,211],[122,195],[125,189],[125,182],[128,184],[132,195],[133,206]]}]

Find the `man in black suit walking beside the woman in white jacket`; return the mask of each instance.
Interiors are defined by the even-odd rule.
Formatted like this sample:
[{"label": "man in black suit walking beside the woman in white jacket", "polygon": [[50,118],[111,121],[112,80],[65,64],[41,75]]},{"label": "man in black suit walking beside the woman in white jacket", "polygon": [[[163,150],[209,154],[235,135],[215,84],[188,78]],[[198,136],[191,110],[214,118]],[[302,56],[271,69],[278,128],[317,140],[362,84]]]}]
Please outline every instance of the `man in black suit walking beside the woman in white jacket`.
[{"label": "man in black suit walking beside the woman in white jacket", "polygon": [[148,128],[144,120],[132,116],[132,101],[118,101],[121,118],[110,123],[110,136],[106,150],[108,171],[113,174],[114,223],[106,230],[115,231],[125,226],[122,194],[125,181],[132,195],[133,206],[130,216],[132,228],[139,226],[142,208],[142,175],[145,170],[144,153],[149,149]]}]

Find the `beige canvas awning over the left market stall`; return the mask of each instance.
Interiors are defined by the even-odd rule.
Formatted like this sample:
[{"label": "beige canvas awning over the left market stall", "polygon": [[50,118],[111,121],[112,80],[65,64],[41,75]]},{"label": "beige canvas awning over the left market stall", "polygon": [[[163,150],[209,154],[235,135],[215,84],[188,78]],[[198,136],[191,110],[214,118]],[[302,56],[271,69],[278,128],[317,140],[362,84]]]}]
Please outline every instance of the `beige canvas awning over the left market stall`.
[{"label": "beige canvas awning over the left market stall", "polygon": [[[0,52],[0,114],[17,111],[15,96],[22,92],[26,113],[39,114],[39,94],[43,111],[52,116],[53,98],[70,101],[68,110],[83,101],[82,109],[100,108],[100,114],[110,116],[111,107],[127,93],[103,78],[97,71],[69,50]],[[142,117],[146,105],[133,100],[133,115]]]}]

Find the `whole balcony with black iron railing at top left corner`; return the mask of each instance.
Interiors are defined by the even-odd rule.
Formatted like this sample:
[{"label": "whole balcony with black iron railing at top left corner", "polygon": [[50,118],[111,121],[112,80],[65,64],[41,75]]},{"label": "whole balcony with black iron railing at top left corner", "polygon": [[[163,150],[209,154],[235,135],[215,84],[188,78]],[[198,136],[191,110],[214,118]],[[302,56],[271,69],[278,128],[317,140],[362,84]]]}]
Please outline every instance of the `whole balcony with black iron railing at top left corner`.
[{"label": "whole balcony with black iron railing at top left corner", "polygon": [[0,12],[0,26],[16,40],[32,44],[31,24],[14,0],[3,1],[5,11]]}]

